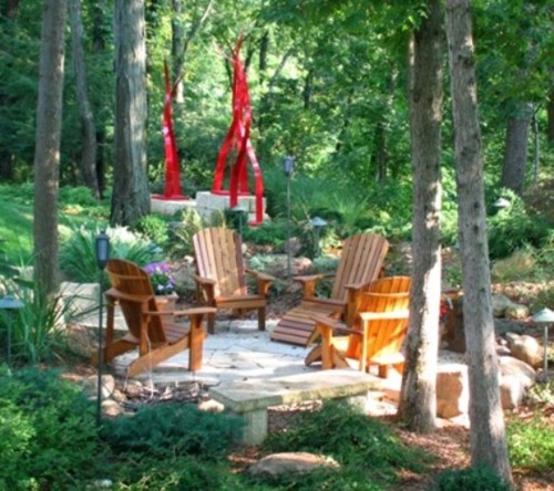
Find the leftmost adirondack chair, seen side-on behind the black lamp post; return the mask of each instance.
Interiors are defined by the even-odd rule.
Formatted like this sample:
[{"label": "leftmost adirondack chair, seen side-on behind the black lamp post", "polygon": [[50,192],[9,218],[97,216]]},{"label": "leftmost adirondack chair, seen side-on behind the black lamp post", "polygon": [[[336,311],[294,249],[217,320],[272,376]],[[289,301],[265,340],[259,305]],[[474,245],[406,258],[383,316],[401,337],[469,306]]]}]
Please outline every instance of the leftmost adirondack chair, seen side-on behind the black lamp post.
[{"label": "leftmost adirondack chair, seen side-on behind the black lamp post", "polygon": [[[110,362],[117,355],[138,348],[137,358],[127,368],[129,376],[133,377],[188,349],[188,369],[198,370],[205,336],[202,321],[215,309],[167,311],[160,307],[147,273],[133,262],[111,259],[106,272],[112,288],[104,293],[107,326],[103,361]],[[129,328],[120,338],[115,337],[114,331],[115,305],[120,305]],[[189,325],[177,323],[175,320],[178,316],[187,316]],[[98,363],[95,358],[93,363]]]}]

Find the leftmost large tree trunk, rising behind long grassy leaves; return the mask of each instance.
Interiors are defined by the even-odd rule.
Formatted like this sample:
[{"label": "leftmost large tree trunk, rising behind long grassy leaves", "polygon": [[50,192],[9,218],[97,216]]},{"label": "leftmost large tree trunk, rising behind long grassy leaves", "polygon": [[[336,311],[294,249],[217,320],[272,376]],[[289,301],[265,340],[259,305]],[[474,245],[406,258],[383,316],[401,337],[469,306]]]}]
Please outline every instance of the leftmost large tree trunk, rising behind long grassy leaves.
[{"label": "leftmost large tree trunk, rising behind long grassy leaves", "polygon": [[34,147],[34,280],[58,289],[58,189],[62,126],[65,0],[44,0]]}]

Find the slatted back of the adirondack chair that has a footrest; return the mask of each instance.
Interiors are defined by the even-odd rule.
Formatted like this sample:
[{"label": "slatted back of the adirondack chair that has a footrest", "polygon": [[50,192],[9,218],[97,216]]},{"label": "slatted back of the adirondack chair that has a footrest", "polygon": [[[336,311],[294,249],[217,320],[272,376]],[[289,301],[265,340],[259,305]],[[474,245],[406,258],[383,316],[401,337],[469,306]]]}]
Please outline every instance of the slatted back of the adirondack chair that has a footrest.
[{"label": "slatted back of the adirondack chair that has a footrest", "polygon": [[373,233],[358,233],[345,240],[330,297],[347,301],[347,284],[360,284],[379,278],[389,242]]}]

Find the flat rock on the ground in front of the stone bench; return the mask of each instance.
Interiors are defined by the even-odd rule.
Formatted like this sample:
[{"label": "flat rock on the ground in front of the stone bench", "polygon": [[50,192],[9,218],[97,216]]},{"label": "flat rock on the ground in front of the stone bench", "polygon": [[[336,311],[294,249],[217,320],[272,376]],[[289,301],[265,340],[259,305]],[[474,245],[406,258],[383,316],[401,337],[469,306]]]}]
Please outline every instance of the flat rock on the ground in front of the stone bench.
[{"label": "flat rock on the ground in front of the stone bench", "polygon": [[276,478],[280,474],[305,474],[321,467],[340,468],[331,457],[316,456],[308,452],[283,452],[273,453],[258,460],[248,468],[248,474]]}]

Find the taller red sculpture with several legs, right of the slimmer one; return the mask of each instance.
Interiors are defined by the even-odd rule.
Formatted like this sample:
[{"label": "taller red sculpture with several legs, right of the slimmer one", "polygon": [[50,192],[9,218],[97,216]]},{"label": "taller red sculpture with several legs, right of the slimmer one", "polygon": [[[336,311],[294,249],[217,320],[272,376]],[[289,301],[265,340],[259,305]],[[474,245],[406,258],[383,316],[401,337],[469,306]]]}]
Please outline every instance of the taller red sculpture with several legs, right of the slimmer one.
[{"label": "taller red sculpture with several legs, right of the slimmer one", "polygon": [[[249,160],[254,175],[256,203],[255,219],[250,224],[256,226],[264,221],[264,180],[250,142],[252,108],[246,72],[239,56],[242,44],[243,38],[237,41],[233,52],[233,121],[219,149],[212,192],[229,195],[229,208],[238,205],[239,195],[252,195],[248,188],[247,160]],[[226,190],[223,186],[228,158],[235,160],[230,161],[229,189]]]}]

